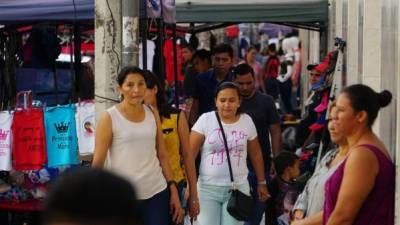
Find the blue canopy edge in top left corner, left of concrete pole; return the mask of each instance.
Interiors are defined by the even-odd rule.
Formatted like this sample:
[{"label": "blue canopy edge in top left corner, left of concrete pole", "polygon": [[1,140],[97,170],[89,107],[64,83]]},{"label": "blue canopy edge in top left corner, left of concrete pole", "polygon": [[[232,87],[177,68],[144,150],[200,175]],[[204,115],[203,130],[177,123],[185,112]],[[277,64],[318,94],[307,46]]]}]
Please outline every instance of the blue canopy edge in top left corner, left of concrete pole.
[{"label": "blue canopy edge in top left corner, left of concrete pole", "polygon": [[94,20],[94,0],[0,0],[0,24]]}]

